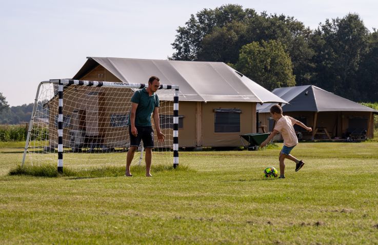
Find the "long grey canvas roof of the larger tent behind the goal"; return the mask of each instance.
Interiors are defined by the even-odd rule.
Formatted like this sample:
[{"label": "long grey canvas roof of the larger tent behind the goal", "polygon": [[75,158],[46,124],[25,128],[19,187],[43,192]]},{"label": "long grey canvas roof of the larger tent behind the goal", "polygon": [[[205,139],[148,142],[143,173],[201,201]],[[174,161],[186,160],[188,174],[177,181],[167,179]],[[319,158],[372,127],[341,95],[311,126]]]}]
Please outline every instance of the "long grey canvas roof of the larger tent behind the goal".
[{"label": "long grey canvas roof of the larger tent behind the goal", "polygon": [[159,77],[162,84],[180,86],[180,100],[287,103],[221,62],[88,57],[73,77],[79,79],[98,64],[124,83],[147,83]]}]

